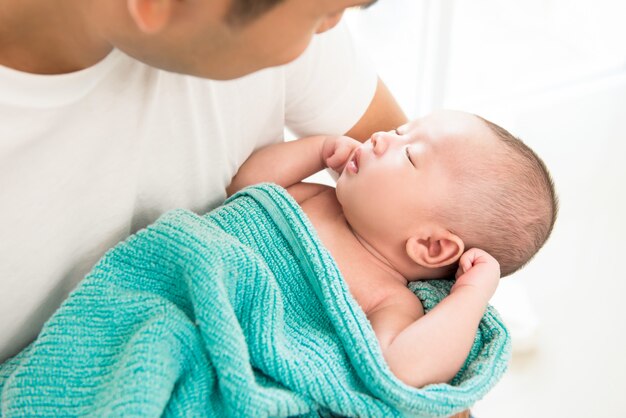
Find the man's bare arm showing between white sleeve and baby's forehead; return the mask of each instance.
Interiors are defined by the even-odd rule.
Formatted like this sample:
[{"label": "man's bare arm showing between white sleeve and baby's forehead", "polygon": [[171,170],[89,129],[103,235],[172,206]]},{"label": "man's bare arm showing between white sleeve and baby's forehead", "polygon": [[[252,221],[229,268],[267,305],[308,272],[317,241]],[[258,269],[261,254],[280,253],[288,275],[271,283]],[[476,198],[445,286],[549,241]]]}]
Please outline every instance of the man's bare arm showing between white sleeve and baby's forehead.
[{"label": "man's bare arm showing between white sleeve and baby's forehead", "polygon": [[363,142],[374,132],[390,131],[406,122],[406,115],[385,83],[379,78],[376,93],[367,110],[345,135]]}]

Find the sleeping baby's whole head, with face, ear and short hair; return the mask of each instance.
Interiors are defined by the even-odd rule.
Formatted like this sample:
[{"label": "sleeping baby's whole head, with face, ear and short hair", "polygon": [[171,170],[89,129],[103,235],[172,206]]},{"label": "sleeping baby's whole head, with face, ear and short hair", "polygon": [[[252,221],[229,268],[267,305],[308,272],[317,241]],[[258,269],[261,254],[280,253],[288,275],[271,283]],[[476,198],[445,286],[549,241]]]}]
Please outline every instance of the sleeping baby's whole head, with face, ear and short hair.
[{"label": "sleeping baby's whole head, with face, ear and short hair", "polygon": [[502,276],[547,240],[557,198],[541,159],[478,116],[440,111],[374,134],[344,170],[337,196],[363,240],[406,277],[442,277],[472,247]]}]

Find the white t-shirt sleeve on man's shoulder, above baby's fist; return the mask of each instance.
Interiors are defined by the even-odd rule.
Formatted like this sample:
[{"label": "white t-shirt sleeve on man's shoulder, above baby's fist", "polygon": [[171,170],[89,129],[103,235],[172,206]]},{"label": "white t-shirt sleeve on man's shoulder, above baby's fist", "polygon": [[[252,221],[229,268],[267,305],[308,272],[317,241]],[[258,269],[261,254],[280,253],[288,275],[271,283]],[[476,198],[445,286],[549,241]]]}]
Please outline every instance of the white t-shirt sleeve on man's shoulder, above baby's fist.
[{"label": "white t-shirt sleeve on man's shoulder, above baby's fist", "polygon": [[373,64],[342,22],[285,67],[285,124],[297,136],[343,134],[367,110],[376,82]]}]

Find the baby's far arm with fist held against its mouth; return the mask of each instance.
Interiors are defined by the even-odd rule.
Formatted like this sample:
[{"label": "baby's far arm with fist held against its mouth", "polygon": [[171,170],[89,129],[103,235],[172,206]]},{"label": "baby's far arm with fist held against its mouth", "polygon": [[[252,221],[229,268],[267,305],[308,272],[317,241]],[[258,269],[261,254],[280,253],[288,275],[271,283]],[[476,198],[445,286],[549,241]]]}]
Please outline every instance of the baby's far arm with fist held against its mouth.
[{"label": "baby's far arm with fist held against its mouth", "polygon": [[347,136],[327,135],[268,145],[243,163],[226,191],[230,196],[246,186],[266,181],[287,188],[326,167],[341,172],[359,145]]}]

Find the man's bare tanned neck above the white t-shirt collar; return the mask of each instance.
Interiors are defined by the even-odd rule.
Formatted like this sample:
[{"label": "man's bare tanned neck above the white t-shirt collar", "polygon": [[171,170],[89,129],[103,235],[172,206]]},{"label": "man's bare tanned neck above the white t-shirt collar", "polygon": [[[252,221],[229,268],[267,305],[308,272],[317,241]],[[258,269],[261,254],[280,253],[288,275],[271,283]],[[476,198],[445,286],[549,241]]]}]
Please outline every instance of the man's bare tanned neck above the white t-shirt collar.
[{"label": "man's bare tanned neck above the white t-shirt collar", "polygon": [[89,22],[87,0],[3,0],[0,65],[35,74],[90,67],[112,49]]}]

